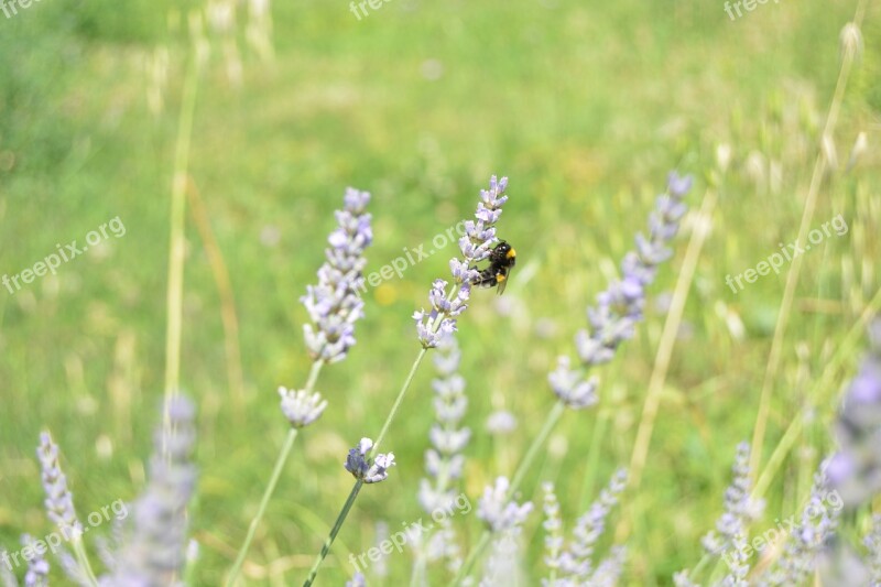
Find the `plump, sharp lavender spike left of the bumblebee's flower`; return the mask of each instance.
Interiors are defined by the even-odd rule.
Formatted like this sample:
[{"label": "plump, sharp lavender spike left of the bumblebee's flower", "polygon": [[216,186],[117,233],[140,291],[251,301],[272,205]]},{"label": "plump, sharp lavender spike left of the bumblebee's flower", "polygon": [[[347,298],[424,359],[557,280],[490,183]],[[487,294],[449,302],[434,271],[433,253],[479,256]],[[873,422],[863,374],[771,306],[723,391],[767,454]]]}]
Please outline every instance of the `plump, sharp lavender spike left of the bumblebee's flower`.
[{"label": "plump, sharp lavender spike left of the bumblebee's flower", "polygon": [[330,247],[318,270],[318,284],[308,285],[300,298],[312,318],[303,334],[315,360],[342,360],[355,345],[355,322],[363,316],[365,305],[358,296],[365,287],[363,253],[373,240],[370,215],[365,213],[369,200],[368,192],[346,191],[344,209],[336,211],[338,227],[327,239]]}]

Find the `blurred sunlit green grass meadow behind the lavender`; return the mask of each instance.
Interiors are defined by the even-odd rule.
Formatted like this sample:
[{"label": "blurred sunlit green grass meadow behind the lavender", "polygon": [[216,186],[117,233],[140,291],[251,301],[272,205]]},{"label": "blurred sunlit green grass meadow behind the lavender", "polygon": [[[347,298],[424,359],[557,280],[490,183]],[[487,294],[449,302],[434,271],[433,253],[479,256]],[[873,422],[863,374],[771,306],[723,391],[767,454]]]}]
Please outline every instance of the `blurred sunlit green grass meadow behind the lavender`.
[{"label": "blurred sunlit green grass meadow behind the lavender", "polygon": [[[516,248],[516,269],[504,295],[472,293],[456,335],[472,431],[463,488],[476,504],[539,433],[555,400],[547,373],[574,352],[585,307],[618,276],[667,172],[695,176],[645,322],[598,371],[599,404],[566,413],[526,475],[519,501],[539,510],[524,528],[527,585],[544,576],[541,482],[556,483],[568,530],[633,459],[696,231],[708,232],[685,284],[641,480],[601,544],[626,542],[624,585],[672,585],[673,573],[694,567],[721,513],[735,447],[753,438],[766,377],[757,475],[791,434],[768,469],[755,528],[798,512],[835,448],[840,392],[881,303],[881,9],[864,3],[838,99],[853,1],[769,2],[732,20],[720,1],[393,0],[358,20],[341,0],[302,0],[272,3],[259,22],[242,3],[209,11],[198,42],[192,14],[206,7],[195,1],[42,0],[0,18],[0,273],[83,244],[113,218],[124,225],[124,236],[56,275],[0,287],[0,544],[15,550],[22,532],[52,530],[34,455],[43,430],[61,446],[81,514],[143,488],[165,385],[180,112],[199,51],[180,370],[197,407],[194,585],[221,584],[287,433],[276,388],[300,387],[309,371],[300,296],[316,281],[347,186],[372,194],[369,274],[404,248],[432,249],[435,235],[471,216],[490,175],[509,177],[498,230]],[[796,240],[818,157],[825,172],[806,227],[841,215],[847,231],[801,258],[781,315],[793,264],[737,293],[726,276]],[[316,389],[329,405],[296,441],[247,584],[305,577],[351,487],[346,453],[381,427],[420,349],[411,316],[456,254],[449,242],[368,289],[357,345],[322,371]],[[349,553],[373,545],[377,522],[394,531],[425,515],[416,490],[434,374],[431,361],[416,373],[383,443],[398,466],[361,491],[318,585],[351,577]],[[514,415],[513,432],[488,431],[498,411]],[[477,540],[476,515],[454,523]],[[86,544],[94,552],[90,535]],[[372,584],[406,584],[410,565],[409,552],[392,553],[390,575]],[[432,577],[449,579],[443,568]]]}]

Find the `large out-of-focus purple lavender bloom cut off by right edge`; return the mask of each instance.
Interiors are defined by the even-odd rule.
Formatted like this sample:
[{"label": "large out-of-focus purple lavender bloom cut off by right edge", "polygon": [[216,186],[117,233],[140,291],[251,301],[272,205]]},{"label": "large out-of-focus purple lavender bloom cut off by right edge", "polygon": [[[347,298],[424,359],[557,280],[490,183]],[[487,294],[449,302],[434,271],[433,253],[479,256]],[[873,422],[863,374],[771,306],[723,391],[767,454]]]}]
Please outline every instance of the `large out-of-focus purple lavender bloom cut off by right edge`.
[{"label": "large out-of-focus purple lavender bloom cut off by right edge", "polygon": [[881,491],[881,319],[869,328],[870,351],[850,382],[838,415],[840,448],[826,476],[845,507],[855,509]]}]

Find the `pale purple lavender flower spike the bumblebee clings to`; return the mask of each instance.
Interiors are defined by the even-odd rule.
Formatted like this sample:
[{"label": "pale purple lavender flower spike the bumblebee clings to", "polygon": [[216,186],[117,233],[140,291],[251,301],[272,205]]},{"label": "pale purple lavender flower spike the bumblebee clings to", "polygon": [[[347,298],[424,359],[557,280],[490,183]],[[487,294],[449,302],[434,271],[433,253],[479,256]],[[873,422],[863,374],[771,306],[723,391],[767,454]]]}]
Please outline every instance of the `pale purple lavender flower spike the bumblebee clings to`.
[{"label": "pale purple lavender flower spike the bumblebee clings to", "polygon": [[503,195],[508,187],[508,177],[497,181],[493,175],[489,182],[489,189],[480,191],[480,202],[477,204],[475,220],[465,222],[465,236],[459,239],[459,250],[463,259],[454,258],[449,261],[455,290],[447,294],[448,283],[437,279],[428,292],[428,302],[432,309],[420,309],[413,314],[416,320],[416,335],[423,348],[435,348],[446,335],[456,330],[456,316],[468,307],[471,294],[471,282],[479,272],[471,269],[475,263],[489,257],[496,238],[496,222],[502,214],[502,206],[508,202]]}]

